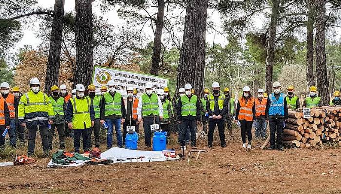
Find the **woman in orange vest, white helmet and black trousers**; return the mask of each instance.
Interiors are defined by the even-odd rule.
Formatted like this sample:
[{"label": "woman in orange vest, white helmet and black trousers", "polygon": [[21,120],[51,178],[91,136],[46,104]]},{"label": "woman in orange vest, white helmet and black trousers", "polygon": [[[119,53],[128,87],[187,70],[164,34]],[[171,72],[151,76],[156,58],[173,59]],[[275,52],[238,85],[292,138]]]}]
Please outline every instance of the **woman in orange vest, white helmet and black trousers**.
[{"label": "woman in orange vest, white helmet and black trousers", "polygon": [[245,135],[247,131],[248,145],[247,148],[251,149],[252,141],[252,124],[256,118],[256,108],[254,98],[250,93],[250,87],[245,86],[243,88],[243,96],[239,98],[236,110],[236,122],[240,122],[240,128],[242,129],[242,148],[246,148]]}]

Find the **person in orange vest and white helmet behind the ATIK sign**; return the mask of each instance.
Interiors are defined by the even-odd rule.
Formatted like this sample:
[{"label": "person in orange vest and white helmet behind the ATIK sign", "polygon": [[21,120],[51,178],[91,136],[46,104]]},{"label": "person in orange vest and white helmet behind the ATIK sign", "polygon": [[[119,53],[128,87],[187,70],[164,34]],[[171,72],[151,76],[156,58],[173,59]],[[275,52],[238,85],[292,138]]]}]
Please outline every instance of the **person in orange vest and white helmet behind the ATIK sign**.
[{"label": "person in orange vest and white helmet behind the ATIK sign", "polygon": [[123,144],[126,143],[127,126],[135,126],[135,132],[139,133],[140,123],[137,120],[137,107],[139,100],[133,97],[133,87],[127,88],[127,99],[124,100],[126,107],[126,121],[123,123]]}]

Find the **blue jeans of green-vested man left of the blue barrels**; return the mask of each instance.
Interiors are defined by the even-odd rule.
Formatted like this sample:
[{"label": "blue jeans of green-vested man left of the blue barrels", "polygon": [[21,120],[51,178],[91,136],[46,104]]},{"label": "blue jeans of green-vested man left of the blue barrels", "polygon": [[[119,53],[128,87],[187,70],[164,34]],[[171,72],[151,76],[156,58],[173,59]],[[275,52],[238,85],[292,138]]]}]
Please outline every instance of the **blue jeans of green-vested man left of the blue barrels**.
[{"label": "blue jeans of green-vested man left of the blue barrels", "polygon": [[115,119],[105,119],[105,122],[108,125],[107,131],[107,147],[111,148],[113,144],[113,127],[115,125],[116,129],[116,137],[117,137],[117,146],[123,147],[123,139],[122,139],[122,132],[121,132],[121,118]]}]

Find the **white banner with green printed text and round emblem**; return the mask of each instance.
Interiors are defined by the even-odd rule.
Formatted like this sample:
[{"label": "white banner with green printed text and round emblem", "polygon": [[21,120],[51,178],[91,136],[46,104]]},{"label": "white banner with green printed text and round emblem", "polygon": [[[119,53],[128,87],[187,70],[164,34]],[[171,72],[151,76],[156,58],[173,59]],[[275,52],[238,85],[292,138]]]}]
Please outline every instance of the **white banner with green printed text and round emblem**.
[{"label": "white banner with green printed text and round emblem", "polygon": [[153,92],[157,93],[159,89],[164,89],[168,86],[168,79],[158,76],[134,73],[130,71],[118,70],[102,66],[94,66],[93,81],[96,86],[96,91],[103,85],[107,85],[109,80],[114,80],[115,89],[122,96],[127,96],[127,88],[133,87],[137,90],[137,96],[145,93],[145,84],[151,82],[153,84]]}]

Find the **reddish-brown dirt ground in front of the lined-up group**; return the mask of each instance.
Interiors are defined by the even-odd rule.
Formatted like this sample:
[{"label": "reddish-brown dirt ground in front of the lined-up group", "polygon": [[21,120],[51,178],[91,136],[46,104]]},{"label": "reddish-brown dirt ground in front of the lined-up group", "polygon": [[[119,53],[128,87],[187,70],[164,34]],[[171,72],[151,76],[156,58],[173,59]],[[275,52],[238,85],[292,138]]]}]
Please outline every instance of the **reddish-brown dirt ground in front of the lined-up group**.
[{"label": "reddish-brown dirt ground in front of the lined-up group", "polygon": [[[71,151],[71,139],[67,143]],[[198,148],[208,152],[197,161],[50,168],[50,158],[39,157],[40,144],[37,139],[35,164],[0,167],[1,194],[341,194],[341,148],[332,145],[277,151],[261,150],[262,141],[254,141],[246,151],[240,140],[227,142],[226,148],[215,141],[212,149],[199,140]],[[175,138],[168,147],[178,148]],[[25,154],[25,149],[17,152]]]}]

